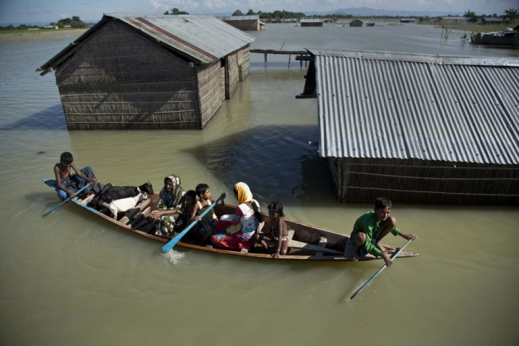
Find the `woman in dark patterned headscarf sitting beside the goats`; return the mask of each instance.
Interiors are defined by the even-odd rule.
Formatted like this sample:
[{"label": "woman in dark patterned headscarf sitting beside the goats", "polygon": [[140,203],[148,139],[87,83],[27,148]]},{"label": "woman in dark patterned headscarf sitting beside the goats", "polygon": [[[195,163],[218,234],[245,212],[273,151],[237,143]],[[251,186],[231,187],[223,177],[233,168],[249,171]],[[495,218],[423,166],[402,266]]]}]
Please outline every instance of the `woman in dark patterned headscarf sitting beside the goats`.
[{"label": "woman in dark patterned headscarf sitting beside the goats", "polygon": [[157,210],[150,216],[155,220],[155,235],[172,237],[176,221],[181,218],[185,191],[181,188],[180,177],[174,174],[164,178],[164,187],[158,194]]}]

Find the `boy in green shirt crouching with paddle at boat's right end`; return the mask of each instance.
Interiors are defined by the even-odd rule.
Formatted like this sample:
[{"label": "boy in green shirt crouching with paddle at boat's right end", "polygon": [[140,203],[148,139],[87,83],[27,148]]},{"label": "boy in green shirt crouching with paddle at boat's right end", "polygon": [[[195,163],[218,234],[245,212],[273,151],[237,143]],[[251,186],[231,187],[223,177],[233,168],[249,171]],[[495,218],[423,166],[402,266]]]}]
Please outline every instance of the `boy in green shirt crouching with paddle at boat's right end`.
[{"label": "boy in green shirt crouching with paddle at boat's right end", "polygon": [[374,211],[365,213],[355,221],[352,236],[348,240],[350,246],[355,246],[352,255],[354,260],[370,253],[375,257],[382,256],[385,264],[391,266],[393,261],[388,251],[379,244],[380,240],[390,232],[408,240],[417,238],[416,235],[407,235],[397,228],[397,219],[390,216],[391,205],[389,199],[379,197],[375,201]]}]

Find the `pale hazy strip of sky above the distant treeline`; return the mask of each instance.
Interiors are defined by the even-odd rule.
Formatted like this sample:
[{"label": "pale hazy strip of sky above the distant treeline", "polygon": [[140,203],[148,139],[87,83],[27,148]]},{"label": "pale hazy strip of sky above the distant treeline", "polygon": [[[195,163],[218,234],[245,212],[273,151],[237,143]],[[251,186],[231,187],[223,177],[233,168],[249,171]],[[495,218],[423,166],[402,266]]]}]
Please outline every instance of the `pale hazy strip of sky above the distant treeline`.
[{"label": "pale hazy strip of sky above the distant treeline", "polygon": [[0,0],[0,24],[51,23],[80,17],[97,22],[103,13],[162,15],[179,8],[190,15],[231,15],[235,10],[246,13],[287,10],[291,12],[327,12],[341,8],[373,8],[374,10],[440,11],[463,15],[471,10],[476,15],[502,15],[504,10],[519,8],[519,0]]}]

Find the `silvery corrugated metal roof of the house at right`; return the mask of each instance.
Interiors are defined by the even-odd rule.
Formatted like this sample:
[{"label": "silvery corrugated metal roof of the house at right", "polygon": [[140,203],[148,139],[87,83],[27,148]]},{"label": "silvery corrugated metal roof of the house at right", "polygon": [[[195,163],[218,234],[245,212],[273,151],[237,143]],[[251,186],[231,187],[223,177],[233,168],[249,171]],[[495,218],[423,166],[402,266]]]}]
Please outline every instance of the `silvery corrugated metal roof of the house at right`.
[{"label": "silvery corrugated metal roof of the house at right", "polygon": [[311,53],[321,156],[519,163],[519,60]]}]

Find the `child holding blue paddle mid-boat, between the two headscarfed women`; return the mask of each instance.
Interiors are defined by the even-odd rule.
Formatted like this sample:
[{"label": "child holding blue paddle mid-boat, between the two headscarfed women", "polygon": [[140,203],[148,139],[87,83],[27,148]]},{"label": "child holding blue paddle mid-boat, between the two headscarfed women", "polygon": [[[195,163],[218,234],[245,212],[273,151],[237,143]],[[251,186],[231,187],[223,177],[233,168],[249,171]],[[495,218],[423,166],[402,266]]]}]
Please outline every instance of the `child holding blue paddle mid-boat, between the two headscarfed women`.
[{"label": "child holding blue paddle mid-boat, between the two headscarfed women", "polygon": [[[215,214],[215,208],[212,208],[206,215],[200,219],[200,215],[205,212],[212,203],[215,203],[215,199],[211,197],[211,191],[209,185],[206,183],[200,183],[197,185],[197,188],[194,189],[198,200],[194,203],[190,214],[190,222],[191,221],[199,221],[197,225],[193,228],[195,232],[202,231],[201,235],[201,244],[207,244],[211,235],[216,233],[216,223],[217,216]],[[226,194],[221,194],[221,200],[219,201],[219,206],[224,206],[224,199]]]}]

